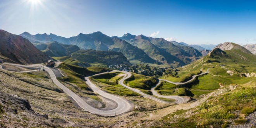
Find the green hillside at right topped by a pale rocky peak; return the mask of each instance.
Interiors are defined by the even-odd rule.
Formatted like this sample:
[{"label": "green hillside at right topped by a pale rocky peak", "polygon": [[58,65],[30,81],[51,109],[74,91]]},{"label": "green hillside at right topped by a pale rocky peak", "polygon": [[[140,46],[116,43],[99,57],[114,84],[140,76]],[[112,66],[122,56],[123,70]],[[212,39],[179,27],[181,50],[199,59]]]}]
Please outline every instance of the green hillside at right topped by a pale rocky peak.
[{"label": "green hillside at right topped by a pale rocky peak", "polygon": [[[232,45],[232,46],[231,46]],[[220,45],[223,48],[223,45]],[[197,98],[199,95],[212,92],[222,85],[245,84],[253,81],[256,77],[256,55],[251,54],[244,47],[235,43],[225,44],[230,50],[221,50],[216,47],[208,55],[192,62],[186,66],[178,68],[163,76],[165,80],[173,82],[185,82],[192,79],[193,75],[205,73],[195,80],[183,84],[174,85],[162,83],[161,93],[171,93],[175,88],[186,87]],[[224,47],[227,49],[227,47]]]}]

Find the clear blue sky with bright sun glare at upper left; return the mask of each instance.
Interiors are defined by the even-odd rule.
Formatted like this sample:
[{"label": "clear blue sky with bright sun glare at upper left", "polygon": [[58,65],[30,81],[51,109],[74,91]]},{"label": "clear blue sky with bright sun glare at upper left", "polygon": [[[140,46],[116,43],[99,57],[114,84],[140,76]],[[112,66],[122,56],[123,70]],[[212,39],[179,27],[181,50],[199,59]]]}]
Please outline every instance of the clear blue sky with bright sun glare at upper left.
[{"label": "clear blue sky with bright sun glare at upper left", "polygon": [[256,1],[0,0],[0,29],[19,35],[145,35],[188,44],[256,43]]}]

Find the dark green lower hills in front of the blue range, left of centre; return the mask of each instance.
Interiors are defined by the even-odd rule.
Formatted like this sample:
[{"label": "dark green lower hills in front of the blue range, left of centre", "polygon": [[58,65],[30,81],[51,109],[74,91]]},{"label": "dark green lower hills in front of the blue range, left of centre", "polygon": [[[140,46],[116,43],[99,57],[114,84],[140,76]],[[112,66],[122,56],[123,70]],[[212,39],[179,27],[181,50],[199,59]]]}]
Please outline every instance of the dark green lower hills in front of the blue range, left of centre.
[{"label": "dark green lower hills in front of the blue range, left of centre", "polygon": [[88,67],[88,63],[98,63],[104,65],[126,64],[131,65],[127,58],[121,52],[84,50],[76,45],[65,45],[56,41],[52,43],[35,44],[36,48],[45,55],[54,57],[57,60],[81,66]]}]

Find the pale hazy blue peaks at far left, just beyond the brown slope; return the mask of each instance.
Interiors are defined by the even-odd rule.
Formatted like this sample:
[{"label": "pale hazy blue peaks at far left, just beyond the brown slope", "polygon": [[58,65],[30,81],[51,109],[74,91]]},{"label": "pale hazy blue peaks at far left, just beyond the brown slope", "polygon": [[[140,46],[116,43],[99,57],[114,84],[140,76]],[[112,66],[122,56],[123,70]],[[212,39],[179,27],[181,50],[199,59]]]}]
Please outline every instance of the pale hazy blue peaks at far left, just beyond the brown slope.
[{"label": "pale hazy blue peaks at far left, just beyond the brown slope", "polygon": [[54,40],[47,35],[46,33],[44,34],[36,34],[36,35],[31,35],[28,32],[21,33],[20,36],[23,38],[28,39],[31,43],[50,43],[53,42]]}]

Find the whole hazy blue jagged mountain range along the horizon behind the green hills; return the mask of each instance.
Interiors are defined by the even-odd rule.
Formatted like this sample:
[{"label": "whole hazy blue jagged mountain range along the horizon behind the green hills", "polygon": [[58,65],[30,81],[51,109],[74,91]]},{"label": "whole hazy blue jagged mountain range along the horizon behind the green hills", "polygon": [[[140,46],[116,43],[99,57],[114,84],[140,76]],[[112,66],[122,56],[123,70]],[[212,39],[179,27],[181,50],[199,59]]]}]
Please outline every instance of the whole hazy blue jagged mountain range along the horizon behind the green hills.
[{"label": "whole hazy blue jagged mountain range along the horizon behind the green hills", "polygon": [[[62,44],[77,45],[81,49],[121,52],[131,62],[151,64],[173,64],[183,66],[203,56],[199,50],[187,45],[177,45],[178,42],[168,42],[163,38],[152,38],[144,35],[125,34],[122,37],[107,36],[101,32],[91,34],[80,33],[77,36],[65,38],[52,33],[31,35],[28,32],[21,34],[32,43],[59,42]],[[45,39],[45,40],[43,40]],[[175,45],[176,44],[176,45]]]}]

